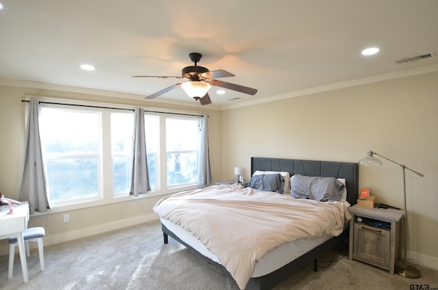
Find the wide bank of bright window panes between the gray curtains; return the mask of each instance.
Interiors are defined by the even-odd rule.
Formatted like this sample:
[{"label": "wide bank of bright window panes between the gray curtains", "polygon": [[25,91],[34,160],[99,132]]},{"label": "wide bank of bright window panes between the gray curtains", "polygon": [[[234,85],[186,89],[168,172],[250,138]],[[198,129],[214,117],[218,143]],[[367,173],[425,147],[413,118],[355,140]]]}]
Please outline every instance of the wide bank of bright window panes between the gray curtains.
[{"label": "wide bank of bright window panes between the gray curtains", "polygon": [[[144,114],[151,184],[144,196],[196,187],[198,118]],[[130,110],[42,104],[40,133],[51,205],[80,208],[129,198],[132,128]]]}]

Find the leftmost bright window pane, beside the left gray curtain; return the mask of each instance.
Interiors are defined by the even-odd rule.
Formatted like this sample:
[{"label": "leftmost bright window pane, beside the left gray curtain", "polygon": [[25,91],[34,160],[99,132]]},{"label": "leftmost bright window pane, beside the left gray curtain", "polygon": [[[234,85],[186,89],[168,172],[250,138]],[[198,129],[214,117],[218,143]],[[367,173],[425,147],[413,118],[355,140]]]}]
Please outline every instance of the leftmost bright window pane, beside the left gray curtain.
[{"label": "leftmost bright window pane, beside the left gray curtain", "polygon": [[51,203],[99,196],[100,131],[99,112],[41,109],[40,135]]}]

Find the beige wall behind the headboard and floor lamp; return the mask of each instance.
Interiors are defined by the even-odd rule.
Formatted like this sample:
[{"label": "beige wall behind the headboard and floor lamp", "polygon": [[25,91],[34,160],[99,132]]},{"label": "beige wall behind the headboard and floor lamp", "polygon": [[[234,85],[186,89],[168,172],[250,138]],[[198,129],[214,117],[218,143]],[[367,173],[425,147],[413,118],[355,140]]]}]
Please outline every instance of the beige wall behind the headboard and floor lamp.
[{"label": "beige wall behind the headboard and floor lamp", "polygon": [[[236,126],[238,124],[238,126]],[[409,255],[438,269],[438,72],[224,111],[222,175],[250,157],[357,162],[372,149],[407,171]],[[402,169],[360,166],[359,186],[403,207]]]}]

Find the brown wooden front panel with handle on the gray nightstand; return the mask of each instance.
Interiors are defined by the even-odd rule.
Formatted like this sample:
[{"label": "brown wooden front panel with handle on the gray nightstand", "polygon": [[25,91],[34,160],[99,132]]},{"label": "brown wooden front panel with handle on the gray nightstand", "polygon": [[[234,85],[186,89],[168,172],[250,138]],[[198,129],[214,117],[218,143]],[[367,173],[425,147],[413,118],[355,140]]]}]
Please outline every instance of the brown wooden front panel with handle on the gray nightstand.
[{"label": "brown wooden front panel with handle on the gray nightstand", "polygon": [[390,229],[355,223],[354,237],[353,259],[389,269]]}]

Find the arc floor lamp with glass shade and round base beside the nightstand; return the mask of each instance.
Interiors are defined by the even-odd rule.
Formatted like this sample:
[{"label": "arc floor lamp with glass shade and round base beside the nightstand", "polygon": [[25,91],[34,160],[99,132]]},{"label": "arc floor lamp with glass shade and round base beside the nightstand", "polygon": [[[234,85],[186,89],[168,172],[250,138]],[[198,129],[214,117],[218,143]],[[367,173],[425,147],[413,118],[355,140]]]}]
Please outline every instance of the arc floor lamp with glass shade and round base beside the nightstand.
[{"label": "arc floor lamp with glass shade and round base beside the nightstand", "polygon": [[361,160],[359,160],[359,164],[361,165],[368,165],[368,166],[382,166],[383,163],[382,161],[380,161],[379,159],[377,159],[376,157],[374,157],[374,155],[380,156],[384,159],[387,159],[388,161],[391,161],[392,163],[396,163],[398,166],[400,166],[402,168],[403,171],[403,200],[404,200],[404,263],[403,264],[397,264],[396,265],[396,269],[394,272],[396,272],[396,274],[406,277],[406,278],[420,278],[422,276],[421,272],[419,269],[407,265],[407,224],[408,224],[408,217],[407,217],[407,210],[406,210],[406,169],[412,171],[413,173],[420,175],[420,176],[424,176],[424,174],[421,174],[420,172],[417,172],[407,166],[404,166],[403,164],[400,164],[394,160],[391,160],[385,156],[382,156],[380,154],[377,154],[375,152],[373,152],[372,150],[368,151],[368,155],[365,158],[362,158]]}]

